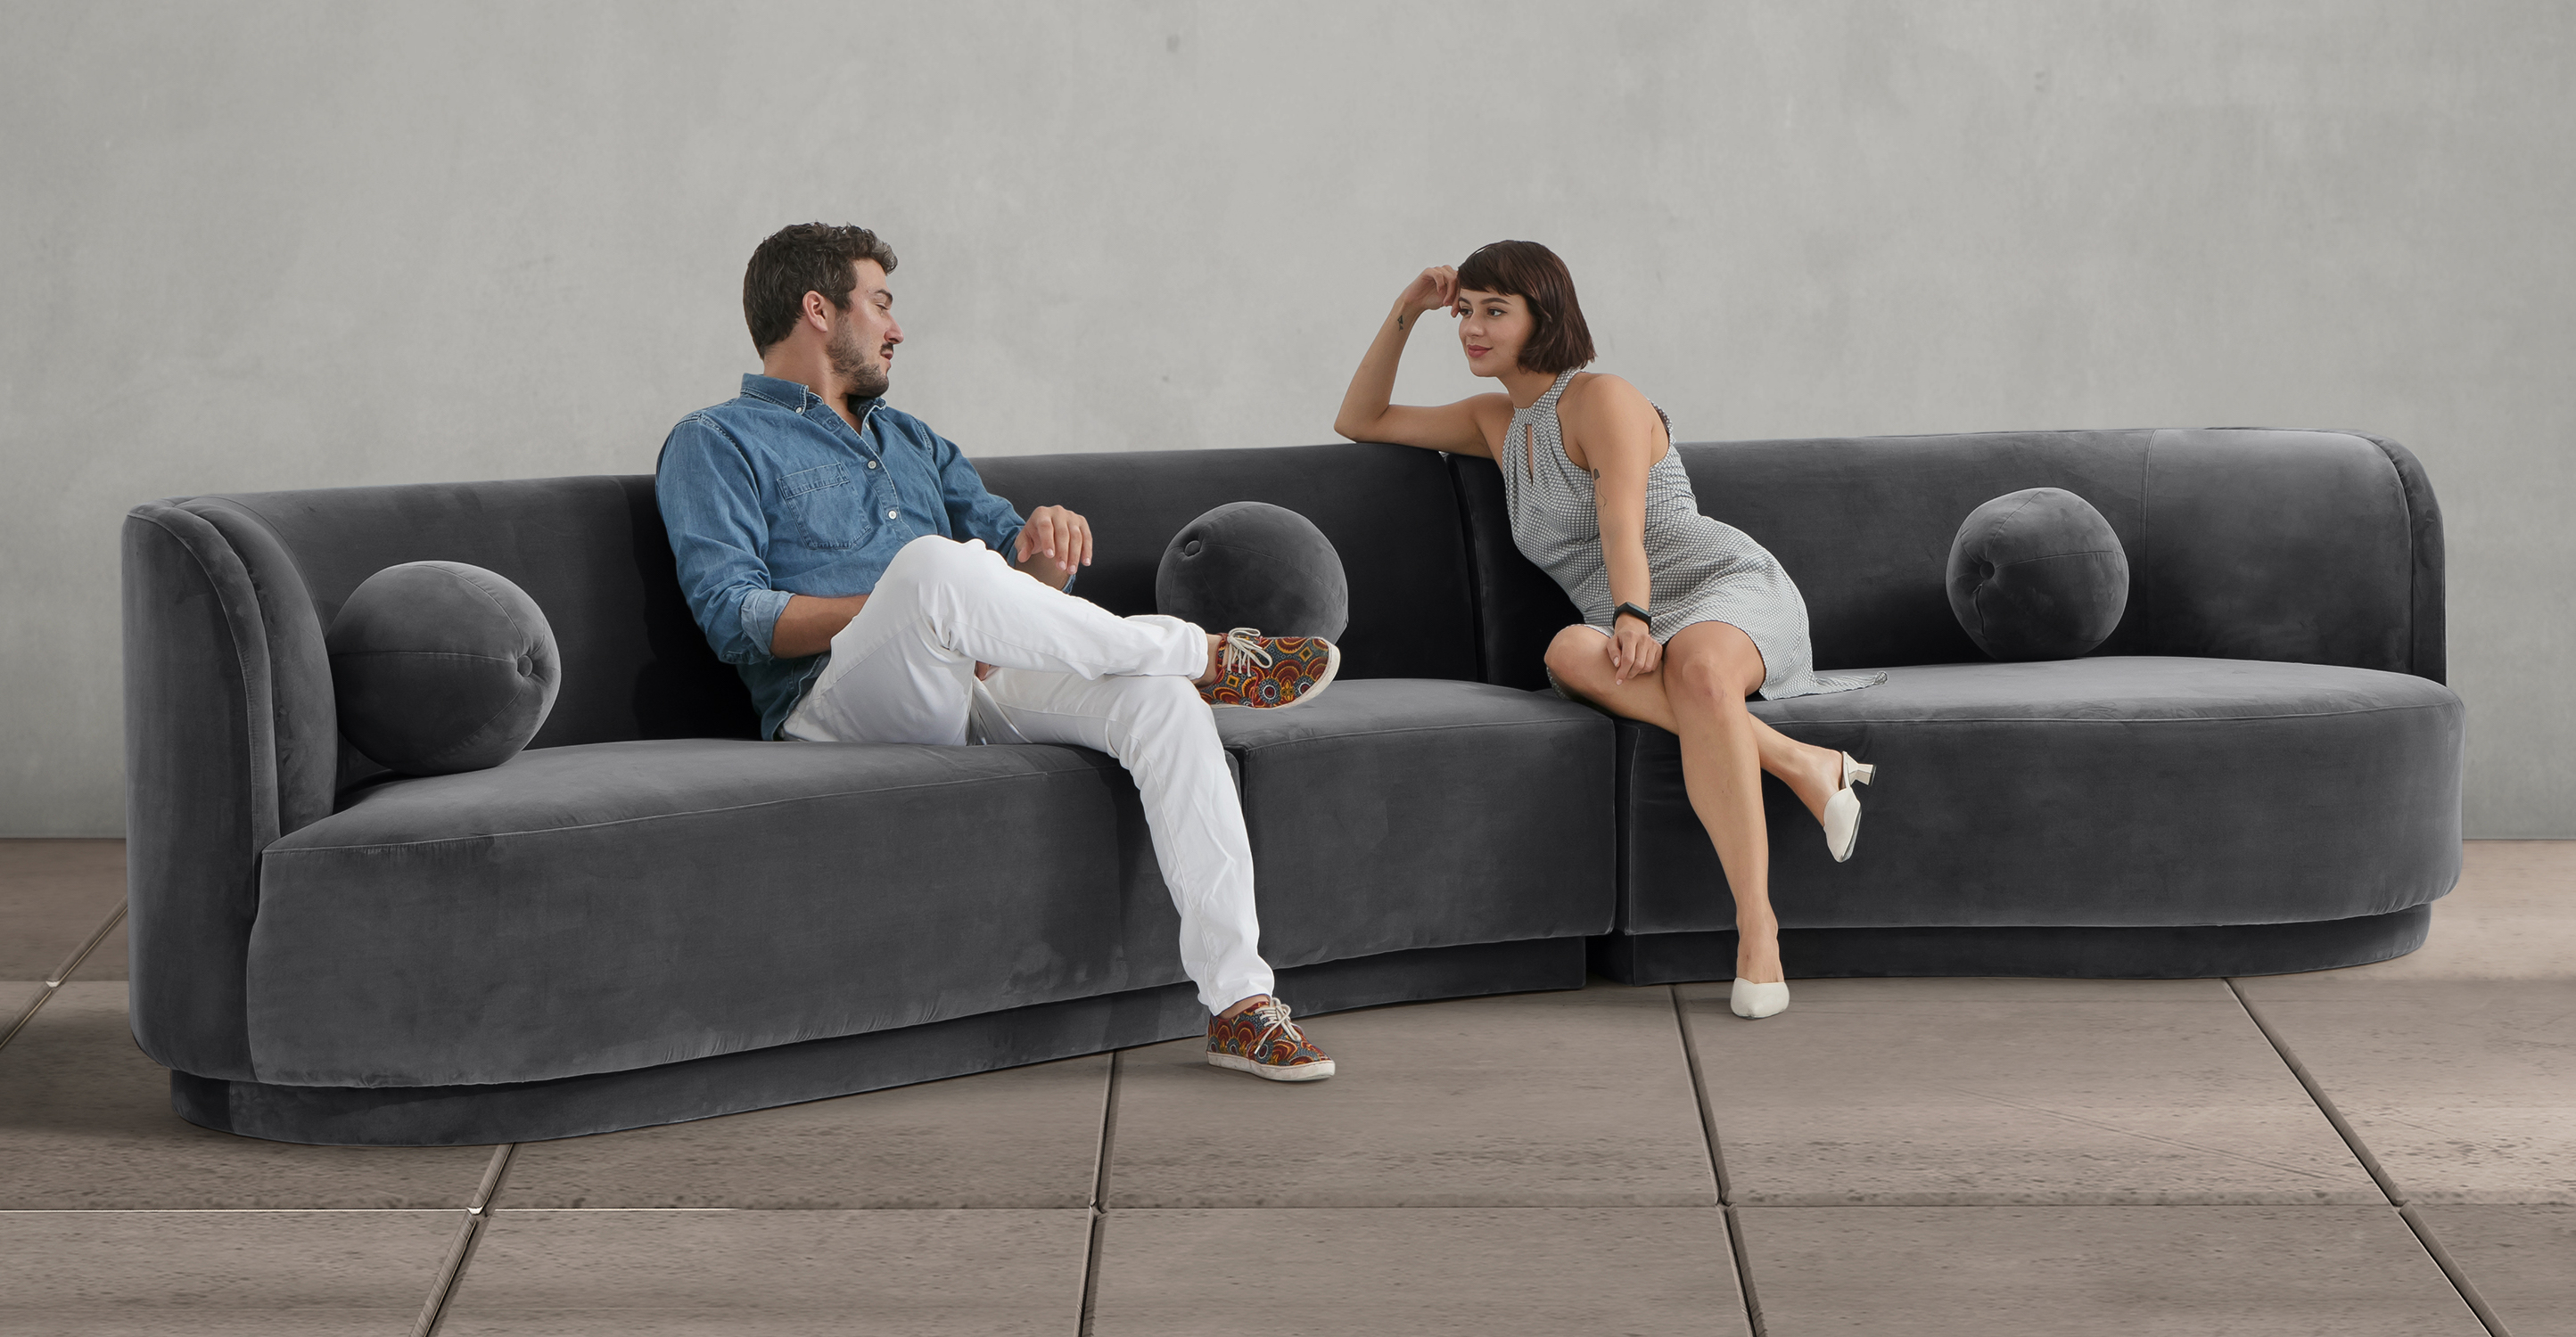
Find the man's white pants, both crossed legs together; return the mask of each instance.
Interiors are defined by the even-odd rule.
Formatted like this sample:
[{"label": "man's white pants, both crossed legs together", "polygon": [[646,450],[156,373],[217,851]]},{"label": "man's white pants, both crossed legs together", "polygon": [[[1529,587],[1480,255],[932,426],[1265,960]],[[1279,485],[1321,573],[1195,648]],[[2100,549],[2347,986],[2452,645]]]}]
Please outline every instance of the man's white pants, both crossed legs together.
[{"label": "man's white pants, both crossed legs together", "polygon": [[[976,683],[976,662],[994,675]],[[1144,796],[1154,860],[1180,907],[1180,963],[1211,1012],[1270,992],[1252,909],[1252,842],[1216,716],[1190,685],[1206,631],[1121,618],[1048,590],[971,538],[922,536],[832,636],[832,659],[781,732],[806,742],[1072,742],[1118,757]]]}]

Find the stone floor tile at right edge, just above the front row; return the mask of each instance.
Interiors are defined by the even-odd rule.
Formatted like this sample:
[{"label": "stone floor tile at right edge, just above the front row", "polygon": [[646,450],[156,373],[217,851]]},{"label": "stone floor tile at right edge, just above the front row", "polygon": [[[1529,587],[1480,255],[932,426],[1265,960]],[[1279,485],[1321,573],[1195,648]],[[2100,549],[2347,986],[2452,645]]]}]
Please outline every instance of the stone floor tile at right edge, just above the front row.
[{"label": "stone floor tile at right edge, just above the front row", "polygon": [[2576,979],[2241,979],[2411,1203],[2576,1203]]}]

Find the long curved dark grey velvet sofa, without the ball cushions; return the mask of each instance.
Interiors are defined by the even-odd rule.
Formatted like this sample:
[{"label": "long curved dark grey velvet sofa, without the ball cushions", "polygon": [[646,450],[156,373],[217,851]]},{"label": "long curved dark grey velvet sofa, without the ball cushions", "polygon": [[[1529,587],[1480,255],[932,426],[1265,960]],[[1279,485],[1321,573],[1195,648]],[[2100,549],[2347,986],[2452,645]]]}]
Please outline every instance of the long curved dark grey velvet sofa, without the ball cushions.
[{"label": "long curved dark grey velvet sofa, without the ball cushions", "polygon": [[[1819,667],[1757,703],[1878,763],[1834,866],[1772,796],[1793,974],[2190,976],[2421,943],[2458,876],[2460,701],[2414,456],[2336,433],[1682,446],[1798,577]],[[1543,688],[1571,621],[1486,461],[1396,446],[1018,456],[994,492],[1097,531],[1082,593],[1149,611],[1231,500],[1350,572],[1345,670],[1224,711],[1262,948],[1301,1012],[1723,979],[1723,876],[1674,739]],[[2092,500],[2128,616],[1981,662],[1958,520]],[[489,567],[564,685],[533,744],[394,778],[337,737],[322,629],[381,567]],[[649,477],[185,497],[124,531],[134,1036],[180,1115],[327,1144],[574,1136],[1193,1036],[1136,793],[1074,747],[755,742],[690,623]]]}]

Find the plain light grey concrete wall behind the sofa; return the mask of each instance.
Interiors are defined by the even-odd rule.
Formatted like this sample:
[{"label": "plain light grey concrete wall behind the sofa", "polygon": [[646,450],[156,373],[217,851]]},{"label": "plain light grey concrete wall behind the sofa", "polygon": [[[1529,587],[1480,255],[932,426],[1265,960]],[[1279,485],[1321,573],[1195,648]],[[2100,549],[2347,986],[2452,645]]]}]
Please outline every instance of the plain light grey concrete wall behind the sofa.
[{"label": "plain light grey concrete wall behind the sofa", "polygon": [[[1394,291],[1569,258],[1690,438],[2360,428],[2450,520],[2470,835],[2576,835],[2576,10],[0,8],[0,835],[121,830],[118,515],[649,471],[783,222],[974,453],[1332,438]],[[1401,397],[1481,389],[1445,330]],[[2298,783],[2282,775],[2282,783]]]}]

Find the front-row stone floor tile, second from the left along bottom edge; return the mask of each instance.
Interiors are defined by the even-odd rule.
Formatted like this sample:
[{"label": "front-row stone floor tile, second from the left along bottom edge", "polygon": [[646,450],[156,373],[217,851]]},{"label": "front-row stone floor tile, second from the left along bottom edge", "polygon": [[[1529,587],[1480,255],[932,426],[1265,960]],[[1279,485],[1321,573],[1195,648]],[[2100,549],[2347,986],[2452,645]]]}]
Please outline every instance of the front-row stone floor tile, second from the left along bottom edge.
[{"label": "front-row stone floor tile, second from the left along bottom edge", "polygon": [[1069,1334],[1090,1211],[497,1211],[440,1337]]}]

